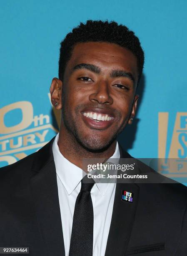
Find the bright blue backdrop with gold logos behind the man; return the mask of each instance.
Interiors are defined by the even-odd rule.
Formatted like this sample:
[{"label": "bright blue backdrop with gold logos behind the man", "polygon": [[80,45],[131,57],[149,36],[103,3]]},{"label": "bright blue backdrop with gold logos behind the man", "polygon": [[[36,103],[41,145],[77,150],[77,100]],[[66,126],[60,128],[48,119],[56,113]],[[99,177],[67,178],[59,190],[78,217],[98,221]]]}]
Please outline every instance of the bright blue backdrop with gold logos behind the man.
[{"label": "bright blue backdrop with gold logos behind the man", "polygon": [[[187,2],[1,1],[0,167],[32,154],[59,129],[49,87],[60,41],[73,27],[115,20],[135,31],[145,51],[137,115],[118,141],[137,158],[159,158],[160,172],[187,177]],[[175,168],[167,158],[176,159]]]}]

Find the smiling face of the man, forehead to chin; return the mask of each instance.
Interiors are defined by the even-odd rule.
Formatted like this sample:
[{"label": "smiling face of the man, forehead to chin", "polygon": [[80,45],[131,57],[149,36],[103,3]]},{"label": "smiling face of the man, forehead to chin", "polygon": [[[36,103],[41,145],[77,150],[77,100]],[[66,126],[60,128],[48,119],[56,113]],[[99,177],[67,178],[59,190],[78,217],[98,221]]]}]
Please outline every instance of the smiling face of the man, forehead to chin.
[{"label": "smiling face of the man, forehead to chin", "polygon": [[135,115],[137,59],[116,44],[75,45],[62,84],[62,125],[89,151],[102,151]]}]

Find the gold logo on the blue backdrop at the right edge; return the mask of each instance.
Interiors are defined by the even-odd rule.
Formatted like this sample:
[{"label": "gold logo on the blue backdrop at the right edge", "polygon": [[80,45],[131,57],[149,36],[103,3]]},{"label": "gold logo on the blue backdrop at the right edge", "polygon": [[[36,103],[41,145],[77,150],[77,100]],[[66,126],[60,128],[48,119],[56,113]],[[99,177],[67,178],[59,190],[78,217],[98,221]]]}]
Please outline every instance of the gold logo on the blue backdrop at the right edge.
[{"label": "gold logo on the blue backdrop at the right edge", "polygon": [[187,182],[187,112],[159,113],[158,158],[161,174]]}]

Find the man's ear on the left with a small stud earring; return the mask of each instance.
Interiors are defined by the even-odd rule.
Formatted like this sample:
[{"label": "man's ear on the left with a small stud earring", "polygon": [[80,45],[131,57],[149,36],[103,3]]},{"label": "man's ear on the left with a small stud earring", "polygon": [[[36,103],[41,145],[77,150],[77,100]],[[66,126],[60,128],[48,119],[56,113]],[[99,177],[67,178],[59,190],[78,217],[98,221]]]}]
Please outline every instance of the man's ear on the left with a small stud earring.
[{"label": "man's ear on the left with a small stud earring", "polygon": [[52,79],[50,86],[51,103],[56,109],[62,108],[62,81],[56,77]]}]

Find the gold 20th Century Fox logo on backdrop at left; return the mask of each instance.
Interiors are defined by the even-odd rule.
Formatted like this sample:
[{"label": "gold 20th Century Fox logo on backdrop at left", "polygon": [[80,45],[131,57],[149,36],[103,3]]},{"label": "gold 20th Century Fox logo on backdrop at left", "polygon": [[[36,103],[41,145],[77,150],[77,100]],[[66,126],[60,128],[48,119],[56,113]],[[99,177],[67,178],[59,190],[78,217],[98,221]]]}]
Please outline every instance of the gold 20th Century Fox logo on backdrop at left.
[{"label": "gold 20th Century Fox logo on backdrop at left", "polygon": [[[5,124],[5,116],[20,110],[18,123]],[[11,121],[11,120],[10,120]],[[25,156],[34,153],[47,142],[57,130],[46,114],[34,115],[29,101],[14,102],[0,109],[0,167],[13,164]]]}]

